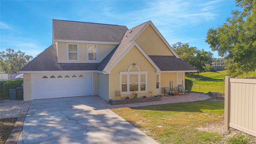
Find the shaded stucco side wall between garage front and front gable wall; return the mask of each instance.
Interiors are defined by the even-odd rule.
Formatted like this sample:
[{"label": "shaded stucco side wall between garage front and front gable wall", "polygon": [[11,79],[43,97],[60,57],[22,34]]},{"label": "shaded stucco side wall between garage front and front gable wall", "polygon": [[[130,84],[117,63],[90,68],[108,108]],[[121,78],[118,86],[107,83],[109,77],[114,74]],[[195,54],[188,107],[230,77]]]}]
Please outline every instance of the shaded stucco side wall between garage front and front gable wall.
[{"label": "shaded stucco side wall between garage front and front gable wall", "polygon": [[109,74],[98,74],[98,96],[103,98],[104,100],[108,101],[109,96],[109,81],[108,81]]}]

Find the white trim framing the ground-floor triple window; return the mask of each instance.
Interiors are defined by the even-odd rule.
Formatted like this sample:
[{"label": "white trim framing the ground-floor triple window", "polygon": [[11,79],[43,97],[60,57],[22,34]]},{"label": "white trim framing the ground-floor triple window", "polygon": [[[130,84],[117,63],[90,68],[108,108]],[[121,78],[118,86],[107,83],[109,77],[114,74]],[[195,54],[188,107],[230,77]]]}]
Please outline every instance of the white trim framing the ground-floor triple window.
[{"label": "white trim framing the ground-floor triple window", "polygon": [[[133,94],[133,91],[130,91],[130,74],[138,74],[138,93],[148,92],[148,71],[132,71],[132,72],[120,72],[120,92],[121,94]],[[140,82],[140,75],[146,75],[146,82]],[[122,92],[122,75],[127,75],[127,92]],[[145,90],[140,90],[140,84],[146,83]]]}]

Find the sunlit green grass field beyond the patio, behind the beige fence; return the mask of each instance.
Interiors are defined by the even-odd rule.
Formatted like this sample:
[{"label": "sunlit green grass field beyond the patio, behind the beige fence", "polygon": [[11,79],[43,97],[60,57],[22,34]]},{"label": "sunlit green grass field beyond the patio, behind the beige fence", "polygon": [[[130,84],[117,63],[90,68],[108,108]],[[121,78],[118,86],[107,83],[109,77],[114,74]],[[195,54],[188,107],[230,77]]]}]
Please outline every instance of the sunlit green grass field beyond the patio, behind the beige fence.
[{"label": "sunlit green grass field beyond the patio, behind the beige fence", "polygon": [[[244,74],[244,76],[256,75],[256,72]],[[225,76],[228,76],[227,70],[218,72],[202,72],[200,74],[190,74],[186,76],[186,79],[193,81],[193,92],[208,93],[212,92],[222,92],[225,91]],[[243,78],[244,76],[240,76]]]}]

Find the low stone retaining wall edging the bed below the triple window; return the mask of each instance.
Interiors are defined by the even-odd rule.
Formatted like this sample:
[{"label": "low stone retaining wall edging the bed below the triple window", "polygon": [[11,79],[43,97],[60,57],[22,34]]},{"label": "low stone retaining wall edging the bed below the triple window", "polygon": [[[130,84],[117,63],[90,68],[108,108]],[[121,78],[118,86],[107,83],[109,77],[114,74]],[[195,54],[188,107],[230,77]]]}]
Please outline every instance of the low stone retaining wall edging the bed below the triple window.
[{"label": "low stone retaining wall edging the bed below the triple window", "polygon": [[108,100],[108,102],[112,105],[117,104],[131,104],[131,103],[137,103],[137,102],[154,102],[154,101],[160,101],[162,99],[161,96],[155,96],[150,98],[138,98],[138,99],[129,99],[129,100]]}]

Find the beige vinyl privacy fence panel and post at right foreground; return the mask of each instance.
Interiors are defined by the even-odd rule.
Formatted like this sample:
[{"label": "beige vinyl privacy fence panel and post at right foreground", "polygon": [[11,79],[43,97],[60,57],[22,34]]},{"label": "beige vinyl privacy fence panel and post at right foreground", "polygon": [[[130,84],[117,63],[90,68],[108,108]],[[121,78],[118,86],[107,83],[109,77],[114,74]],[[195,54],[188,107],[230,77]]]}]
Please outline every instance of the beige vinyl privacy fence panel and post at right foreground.
[{"label": "beige vinyl privacy fence panel and post at right foreground", "polygon": [[256,79],[225,77],[225,131],[234,128],[256,136]]}]

